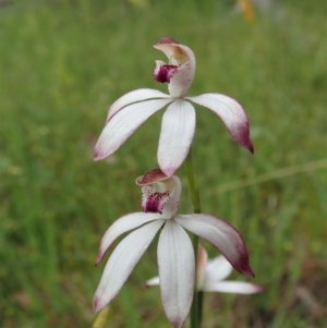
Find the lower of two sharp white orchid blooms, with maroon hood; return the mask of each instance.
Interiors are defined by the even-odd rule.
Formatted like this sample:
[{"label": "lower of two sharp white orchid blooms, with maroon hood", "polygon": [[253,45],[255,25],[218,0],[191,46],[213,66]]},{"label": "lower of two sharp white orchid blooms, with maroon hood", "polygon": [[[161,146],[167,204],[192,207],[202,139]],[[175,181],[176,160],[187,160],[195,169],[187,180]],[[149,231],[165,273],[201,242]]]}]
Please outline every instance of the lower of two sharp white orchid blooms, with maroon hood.
[{"label": "lower of two sharp white orchid blooms, with maroon hood", "polygon": [[[142,212],[118,219],[105,233],[96,259],[98,264],[111,243],[126,231],[112,252],[94,297],[95,311],[106,306],[120,291],[136,263],[161,229],[158,242],[158,268],[161,300],[173,327],[181,327],[193,299],[195,259],[190,236],[184,229],[211,243],[244,275],[254,276],[246,247],[239,232],[222,219],[205,214],[177,215],[181,182],[156,169],[140,177]],[[148,186],[154,184],[154,187]]]}]

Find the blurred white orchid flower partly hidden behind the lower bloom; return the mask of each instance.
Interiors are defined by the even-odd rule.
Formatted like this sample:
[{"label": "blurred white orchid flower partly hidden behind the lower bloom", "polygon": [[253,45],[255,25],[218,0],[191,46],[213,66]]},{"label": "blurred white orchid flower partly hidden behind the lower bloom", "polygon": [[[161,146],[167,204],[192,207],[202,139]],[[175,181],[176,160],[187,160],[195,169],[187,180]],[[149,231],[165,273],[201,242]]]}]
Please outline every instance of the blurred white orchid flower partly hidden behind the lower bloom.
[{"label": "blurred white orchid flower partly hidden behind the lower bloom", "polygon": [[[243,281],[225,281],[233,267],[219,255],[208,260],[208,254],[203,246],[197,250],[196,281],[197,290],[202,292],[221,292],[235,294],[255,294],[263,292],[261,286]],[[146,281],[145,287],[158,286],[159,277]]]}]

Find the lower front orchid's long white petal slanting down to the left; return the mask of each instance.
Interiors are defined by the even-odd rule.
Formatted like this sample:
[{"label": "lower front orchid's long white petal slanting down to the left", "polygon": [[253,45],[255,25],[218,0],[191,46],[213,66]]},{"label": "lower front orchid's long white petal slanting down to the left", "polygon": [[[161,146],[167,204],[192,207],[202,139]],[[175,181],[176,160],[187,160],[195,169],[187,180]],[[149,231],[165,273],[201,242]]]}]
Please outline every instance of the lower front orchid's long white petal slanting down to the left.
[{"label": "lower front orchid's long white petal slanting down to the left", "polygon": [[148,247],[164,220],[156,220],[131,232],[112,252],[94,296],[94,309],[98,312],[120,291],[136,263]]}]

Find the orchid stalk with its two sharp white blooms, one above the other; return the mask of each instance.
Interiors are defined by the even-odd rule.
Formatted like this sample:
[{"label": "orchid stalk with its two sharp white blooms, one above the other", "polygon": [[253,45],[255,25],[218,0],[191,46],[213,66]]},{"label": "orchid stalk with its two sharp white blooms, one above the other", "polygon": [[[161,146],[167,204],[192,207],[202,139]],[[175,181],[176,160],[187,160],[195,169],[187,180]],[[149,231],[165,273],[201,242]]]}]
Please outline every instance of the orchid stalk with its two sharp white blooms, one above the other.
[{"label": "orchid stalk with its two sharp white blooms, one above the other", "polygon": [[[172,38],[162,38],[155,48],[169,59],[168,63],[156,61],[153,70],[157,82],[168,83],[169,95],[142,88],[116,100],[109,108],[106,126],[94,150],[95,160],[110,156],[144,121],[168,105],[162,116],[157,151],[159,169],[137,179],[143,192],[143,212],[130,214],[117,220],[101,241],[96,263],[102,258],[116,238],[137,228],[111,254],[95,295],[94,307],[99,311],[116,296],[155,234],[162,229],[158,244],[158,268],[166,315],[173,327],[182,327],[194,300],[191,326],[198,328],[201,302],[197,297],[198,291],[194,289],[194,254],[198,250],[198,236],[218,248],[237,270],[254,275],[239,232],[219,218],[201,214],[191,151],[196,124],[192,102],[214,111],[239,145],[252,153],[253,145],[247,118],[239,102],[214,93],[187,96],[196,66],[195,56],[189,47]],[[177,215],[177,209],[181,182],[173,173],[184,161],[195,214],[180,216]],[[149,184],[153,186],[148,186]],[[194,234],[193,247],[184,229]]]}]

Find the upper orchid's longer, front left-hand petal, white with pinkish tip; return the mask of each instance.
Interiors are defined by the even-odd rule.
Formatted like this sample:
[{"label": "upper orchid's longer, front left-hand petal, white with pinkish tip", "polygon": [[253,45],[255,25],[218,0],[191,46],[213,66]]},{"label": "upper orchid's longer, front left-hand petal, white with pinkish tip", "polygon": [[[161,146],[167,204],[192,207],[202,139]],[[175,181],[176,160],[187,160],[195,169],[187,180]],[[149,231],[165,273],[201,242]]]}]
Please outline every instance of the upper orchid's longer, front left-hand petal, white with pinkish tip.
[{"label": "upper orchid's longer, front left-hand petal, white with pinkish tip", "polygon": [[144,121],[170,101],[171,99],[155,99],[124,107],[102,130],[94,149],[94,159],[104,159],[114,153]]}]

